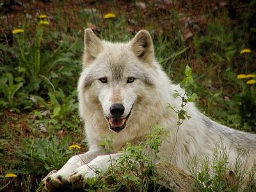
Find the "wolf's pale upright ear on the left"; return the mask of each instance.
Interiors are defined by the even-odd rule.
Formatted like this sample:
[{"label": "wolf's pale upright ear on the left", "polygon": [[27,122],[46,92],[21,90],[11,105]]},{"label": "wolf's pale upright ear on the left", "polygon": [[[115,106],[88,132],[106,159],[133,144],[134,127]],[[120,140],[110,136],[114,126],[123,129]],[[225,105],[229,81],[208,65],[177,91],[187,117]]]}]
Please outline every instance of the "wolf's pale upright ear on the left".
[{"label": "wolf's pale upright ear on the left", "polygon": [[95,60],[102,49],[102,42],[92,29],[84,29],[84,67],[86,67],[86,63]]}]

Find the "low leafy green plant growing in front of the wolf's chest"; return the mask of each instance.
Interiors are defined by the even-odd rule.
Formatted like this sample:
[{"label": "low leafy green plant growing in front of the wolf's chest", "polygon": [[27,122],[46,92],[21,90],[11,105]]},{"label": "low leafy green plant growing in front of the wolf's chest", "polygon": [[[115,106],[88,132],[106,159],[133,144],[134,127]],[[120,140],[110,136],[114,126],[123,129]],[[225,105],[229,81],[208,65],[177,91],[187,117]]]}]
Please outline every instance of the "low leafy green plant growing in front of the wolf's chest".
[{"label": "low leafy green plant growing in front of the wolf's chest", "polygon": [[[117,160],[111,157],[112,136],[102,138],[100,147],[109,154],[111,166],[108,172],[102,174],[97,170],[97,179],[88,179],[86,191],[104,189],[107,191],[159,191],[163,186],[157,184],[163,175],[158,175],[154,163],[162,143],[163,128],[152,125],[147,139],[138,143],[127,143]],[[116,161],[115,163],[113,161]]]}]

